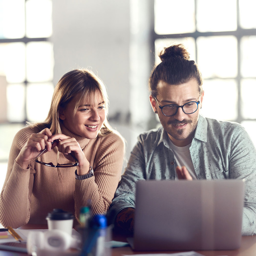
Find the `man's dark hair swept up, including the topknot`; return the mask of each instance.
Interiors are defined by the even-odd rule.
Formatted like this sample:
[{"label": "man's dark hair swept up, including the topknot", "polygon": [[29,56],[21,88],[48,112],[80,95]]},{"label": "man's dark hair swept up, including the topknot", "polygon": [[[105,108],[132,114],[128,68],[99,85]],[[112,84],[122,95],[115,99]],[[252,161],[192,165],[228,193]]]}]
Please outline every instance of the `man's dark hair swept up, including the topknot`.
[{"label": "man's dark hair swept up, including the topknot", "polygon": [[164,48],[159,53],[162,60],[151,73],[149,77],[149,90],[153,96],[157,96],[157,85],[159,81],[167,84],[185,84],[191,79],[198,82],[198,91],[203,91],[203,79],[197,64],[194,60],[190,60],[189,53],[183,44],[176,44]]}]

